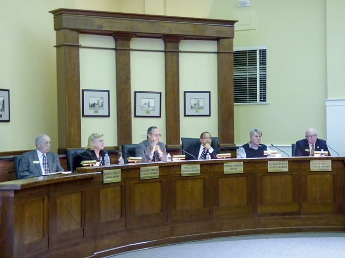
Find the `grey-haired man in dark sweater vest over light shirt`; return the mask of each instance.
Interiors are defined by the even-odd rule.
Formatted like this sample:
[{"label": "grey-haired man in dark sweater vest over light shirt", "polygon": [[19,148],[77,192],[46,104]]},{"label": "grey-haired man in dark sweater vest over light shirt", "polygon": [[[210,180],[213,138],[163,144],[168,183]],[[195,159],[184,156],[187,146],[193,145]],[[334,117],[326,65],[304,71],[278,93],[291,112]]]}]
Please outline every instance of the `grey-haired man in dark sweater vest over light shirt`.
[{"label": "grey-haired man in dark sweater vest over light shirt", "polygon": [[262,131],[260,129],[252,129],[249,132],[250,141],[242,145],[239,149],[238,156],[240,158],[264,158],[264,151],[267,146],[261,144]]}]

